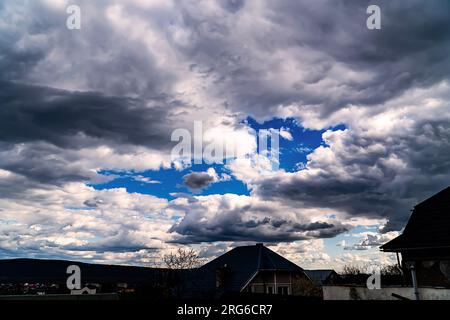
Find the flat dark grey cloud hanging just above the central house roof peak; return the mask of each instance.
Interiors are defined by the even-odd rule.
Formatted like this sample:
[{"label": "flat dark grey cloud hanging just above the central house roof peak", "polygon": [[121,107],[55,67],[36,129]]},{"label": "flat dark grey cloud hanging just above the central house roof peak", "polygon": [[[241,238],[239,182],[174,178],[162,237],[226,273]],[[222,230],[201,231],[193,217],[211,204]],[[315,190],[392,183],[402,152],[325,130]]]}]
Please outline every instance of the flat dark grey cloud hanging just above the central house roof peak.
[{"label": "flat dark grey cloud hanging just above the central house roof peak", "polygon": [[[231,204],[220,200],[218,208],[200,201],[177,206],[184,210],[184,218],[174,224],[169,232],[176,233],[175,243],[200,243],[216,241],[291,242],[296,240],[332,238],[347,232],[350,227],[338,221],[299,223],[284,219],[284,212],[274,208],[261,211],[259,206]],[[264,215],[261,215],[264,214]],[[267,216],[266,216],[267,214]],[[259,218],[254,217],[258,215]]]}]

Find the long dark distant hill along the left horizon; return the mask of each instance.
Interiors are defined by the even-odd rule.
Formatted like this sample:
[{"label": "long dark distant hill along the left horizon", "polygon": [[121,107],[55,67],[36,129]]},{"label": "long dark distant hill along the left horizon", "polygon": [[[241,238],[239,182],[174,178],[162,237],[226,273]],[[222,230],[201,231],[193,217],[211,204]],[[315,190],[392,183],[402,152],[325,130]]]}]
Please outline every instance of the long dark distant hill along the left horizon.
[{"label": "long dark distant hill along the left horizon", "polygon": [[169,269],[89,264],[66,260],[10,259],[0,260],[1,282],[65,283],[67,267],[77,265],[86,282],[155,283],[173,273]]}]

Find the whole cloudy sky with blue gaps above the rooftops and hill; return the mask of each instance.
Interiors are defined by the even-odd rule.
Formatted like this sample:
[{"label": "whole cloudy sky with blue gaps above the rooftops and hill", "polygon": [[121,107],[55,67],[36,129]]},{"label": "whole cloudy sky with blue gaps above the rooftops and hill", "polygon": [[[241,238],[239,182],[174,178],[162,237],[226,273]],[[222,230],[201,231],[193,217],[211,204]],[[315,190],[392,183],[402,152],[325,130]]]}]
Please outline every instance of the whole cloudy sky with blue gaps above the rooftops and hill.
[{"label": "whole cloudy sky with blue gaps above the rooftops and hill", "polygon": [[[0,258],[264,242],[305,268],[390,263],[378,246],[450,185],[449,99],[446,0],[0,1]],[[236,156],[172,158],[194,121]]]}]

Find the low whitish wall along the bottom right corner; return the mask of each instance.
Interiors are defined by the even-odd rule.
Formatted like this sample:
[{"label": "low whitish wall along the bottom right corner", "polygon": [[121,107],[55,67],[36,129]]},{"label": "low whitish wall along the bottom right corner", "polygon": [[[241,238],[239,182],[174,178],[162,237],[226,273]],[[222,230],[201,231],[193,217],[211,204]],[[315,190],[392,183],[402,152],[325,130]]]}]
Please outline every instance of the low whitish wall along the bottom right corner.
[{"label": "low whitish wall along the bottom right corner", "polygon": [[[351,295],[352,288],[353,295]],[[324,300],[352,300],[352,296],[358,296],[361,300],[398,300],[392,296],[392,293],[415,300],[412,287],[386,287],[369,290],[366,287],[356,286],[323,286]],[[419,288],[419,297],[421,300],[450,300],[450,289]]]}]

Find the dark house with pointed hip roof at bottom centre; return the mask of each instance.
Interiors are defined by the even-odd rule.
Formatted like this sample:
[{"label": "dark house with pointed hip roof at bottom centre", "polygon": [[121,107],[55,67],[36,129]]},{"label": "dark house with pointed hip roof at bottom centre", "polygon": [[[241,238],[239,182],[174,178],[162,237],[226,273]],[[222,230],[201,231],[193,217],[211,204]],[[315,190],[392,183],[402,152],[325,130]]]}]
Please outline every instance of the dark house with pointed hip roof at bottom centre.
[{"label": "dark house with pointed hip roof at bottom centre", "polygon": [[236,247],[198,269],[195,291],[296,294],[296,281],[310,281],[303,269],[263,244]]}]

